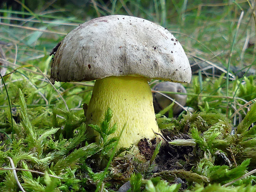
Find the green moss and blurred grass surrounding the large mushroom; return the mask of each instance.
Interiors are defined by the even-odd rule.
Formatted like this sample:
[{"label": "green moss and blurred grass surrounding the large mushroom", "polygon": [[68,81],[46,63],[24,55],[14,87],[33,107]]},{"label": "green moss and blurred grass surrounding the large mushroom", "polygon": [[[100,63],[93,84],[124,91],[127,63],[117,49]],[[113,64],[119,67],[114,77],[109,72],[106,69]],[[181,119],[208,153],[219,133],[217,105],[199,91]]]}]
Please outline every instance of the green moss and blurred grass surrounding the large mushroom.
[{"label": "green moss and blurred grass surrounding the large mushroom", "polygon": [[[228,183],[236,178],[233,173],[243,175],[249,166],[249,160],[245,159],[256,159],[254,111],[247,115],[256,98],[255,5],[255,0],[2,0],[0,73],[5,85],[1,81],[0,166],[9,165],[7,156],[10,156],[17,167],[42,172],[47,170],[64,178],[64,181],[50,181],[43,176],[40,178],[38,175],[19,172],[22,185],[28,191],[46,192],[50,187],[55,191],[96,189],[95,186],[99,185],[98,181],[104,178],[105,173],[91,169],[90,163],[93,160],[85,159],[92,154],[104,154],[105,148],[95,144],[88,145],[86,138],[82,136],[85,132],[82,105],[89,102],[94,82],[56,82],[52,85],[49,81],[52,56],[49,54],[78,24],[95,17],[124,14],[142,17],[167,28],[183,45],[190,64],[194,67],[192,82],[184,86],[188,95],[187,106],[196,112],[193,115],[181,114],[177,119],[157,119],[162,130],[170,133],[173,131],[175,134],[179,131],[188,132],[193,138],[189,141],[190,144],[193,146],[197,142],[194,150],[199,151],[198,159],[197,163],[193,162],[191,172],[199,176],[188,182],[190,190],[193,191],[194,183],[201,184],[196,184],[194,190],[201,187],[202,191],[204,184]],[[150,85],[155,83],[156,81],[152,81]],[[188,126],[191,129],[188,130]],[[227,134],[231,127],[238,127],[240,133],[234,137]],[[7,138],[6,135],[12,138]],[[28,135],[34,136],[32,138]],[[228,147],[230,151],[227,150]],[[234,159],[242,166],[230,171],[222,166],[220,171],[220,166],[215,164],[213,157],[216,157],[215,152],[219,149],[232,161],[232,168],[237,166]],[[215,175],[209,173],[209,168],[215,171]],[[253,168],[255,161],[251,161],[249,170]],[[152,176],[152,167],[147,171],[146,168],[141,169],[144,178]],[[232,172],[233,170],[238,170],[239,174],[238,171]],[[117,175],[111,175],[112,172],[109,177]],[[158,176],[168,180],[170,174],[174,173],[168,174],[159,173]],[[187,172],[175,174],[191,179],[185,175]],[[255,184],[254,179],[247,178],[236,186]],[[111,186],[107,183],[111,183],[109,180],[105,182],[107,187]],[[134,186],[136,180],[140,181],[136,184],[139,192],[141,177],[132,176]],[[111,184],[117,187],[124,181],[127,180]],[[154,185],[158,181],[152,180]],[[81,186],[84,187],[83,190]],[[221,186],[214,184],[208,186],[208,189],[218,191],[216,187]],[[11,172],[0,170],[0,189],[18,191]],[[234,188],[233,191],[242,190]]]}]

